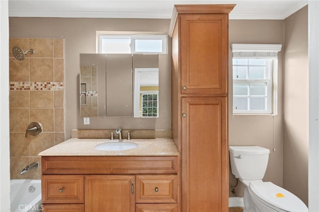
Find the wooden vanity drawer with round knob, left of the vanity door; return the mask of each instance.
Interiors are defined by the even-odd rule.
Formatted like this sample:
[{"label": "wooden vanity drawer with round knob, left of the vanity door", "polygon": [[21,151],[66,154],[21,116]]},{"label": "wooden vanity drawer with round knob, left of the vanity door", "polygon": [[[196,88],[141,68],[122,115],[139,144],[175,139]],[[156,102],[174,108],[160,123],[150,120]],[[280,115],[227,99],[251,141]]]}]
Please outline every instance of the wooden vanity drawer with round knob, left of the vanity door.
[{"label": "wooden vanity drawer with round knob, left of the vanity door", "polygon": [[42,175],[42,203],[84,203],[83,175]]}]

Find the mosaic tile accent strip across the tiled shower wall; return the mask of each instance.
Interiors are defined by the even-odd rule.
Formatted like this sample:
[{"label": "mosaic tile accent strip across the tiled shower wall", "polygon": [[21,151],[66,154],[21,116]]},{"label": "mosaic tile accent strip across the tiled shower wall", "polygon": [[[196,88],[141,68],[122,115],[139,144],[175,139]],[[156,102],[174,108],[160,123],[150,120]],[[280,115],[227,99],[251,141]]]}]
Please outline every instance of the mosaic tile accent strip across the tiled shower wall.
[{"label": "mosaic tile accent strip across the tiled shower wall", "polygon": [[63,82],[10,82],[10,91],[64,91]]}]

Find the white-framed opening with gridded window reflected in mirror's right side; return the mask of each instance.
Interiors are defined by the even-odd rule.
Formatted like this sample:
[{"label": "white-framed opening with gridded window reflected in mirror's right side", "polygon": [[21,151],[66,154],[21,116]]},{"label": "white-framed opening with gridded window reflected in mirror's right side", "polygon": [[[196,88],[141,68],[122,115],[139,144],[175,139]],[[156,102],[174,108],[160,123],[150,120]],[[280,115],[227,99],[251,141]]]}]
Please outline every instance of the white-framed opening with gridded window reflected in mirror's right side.
[{"label": "white-framed opening with gridded window reflected in mirror's right side", "polygon": [[134,117],[159,116],[159,69],[134,70]]}]

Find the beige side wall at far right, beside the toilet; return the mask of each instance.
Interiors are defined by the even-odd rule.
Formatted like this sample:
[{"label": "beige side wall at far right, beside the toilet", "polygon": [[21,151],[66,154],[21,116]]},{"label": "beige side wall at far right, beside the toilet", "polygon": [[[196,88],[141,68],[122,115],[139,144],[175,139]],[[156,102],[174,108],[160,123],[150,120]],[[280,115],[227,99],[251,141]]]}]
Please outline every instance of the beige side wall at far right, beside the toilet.
[{"label": "beige side wall at far right, beside the toilet", "polygon": [[308,6],[285,19],[283,186],[308,204]]}]

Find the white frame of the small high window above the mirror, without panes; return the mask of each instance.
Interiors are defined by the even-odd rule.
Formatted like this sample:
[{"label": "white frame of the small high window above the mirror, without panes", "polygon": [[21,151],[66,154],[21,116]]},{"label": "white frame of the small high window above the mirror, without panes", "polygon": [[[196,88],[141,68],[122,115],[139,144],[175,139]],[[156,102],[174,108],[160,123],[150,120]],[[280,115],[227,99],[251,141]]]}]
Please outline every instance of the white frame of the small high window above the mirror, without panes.
[{"label": "white frame of the small high window above the mirror, without panes", "polygon": [[[131,39],[131,52],[132,54],[167,54],[167,34],[161,32],[107,32],[97,31],[97,53],[102,52],[102,39],[104,38],[129,38]],[[161,52],[137,52],[135,50],[136,40],[161,40]]]}]

